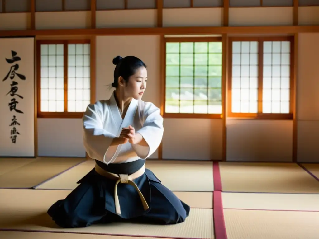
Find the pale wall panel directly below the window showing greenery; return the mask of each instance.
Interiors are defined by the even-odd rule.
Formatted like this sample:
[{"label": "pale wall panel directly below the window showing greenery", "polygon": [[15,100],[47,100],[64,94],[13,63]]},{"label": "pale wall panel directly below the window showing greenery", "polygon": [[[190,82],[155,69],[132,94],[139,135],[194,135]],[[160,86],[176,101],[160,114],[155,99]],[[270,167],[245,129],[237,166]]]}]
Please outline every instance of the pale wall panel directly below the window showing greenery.
[{"label": "pale wall panel directly below the window showing greenery", "polygon": [[222,120],[164,119],[163,159],[221,158]]}]

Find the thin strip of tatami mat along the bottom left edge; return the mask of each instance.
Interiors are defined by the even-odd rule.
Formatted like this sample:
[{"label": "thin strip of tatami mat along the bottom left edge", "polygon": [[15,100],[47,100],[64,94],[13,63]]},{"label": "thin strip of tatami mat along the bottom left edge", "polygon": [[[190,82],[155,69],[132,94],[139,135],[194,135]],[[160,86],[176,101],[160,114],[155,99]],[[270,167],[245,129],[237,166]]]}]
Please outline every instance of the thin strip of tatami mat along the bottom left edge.
[{"label": "thin strip of tatami mat along the bottom left edge", "polygon": [[[1,239],[106,239],[105,235],[74,234],[74,233],[49,233],[49,232],[22,232],[22,231],[0,231]],[[111,236],[107,239],[134,239],[132,236]],[[154,237],[143,237],[153,239]],[[157,237],[157,239],[165,239]]]}]

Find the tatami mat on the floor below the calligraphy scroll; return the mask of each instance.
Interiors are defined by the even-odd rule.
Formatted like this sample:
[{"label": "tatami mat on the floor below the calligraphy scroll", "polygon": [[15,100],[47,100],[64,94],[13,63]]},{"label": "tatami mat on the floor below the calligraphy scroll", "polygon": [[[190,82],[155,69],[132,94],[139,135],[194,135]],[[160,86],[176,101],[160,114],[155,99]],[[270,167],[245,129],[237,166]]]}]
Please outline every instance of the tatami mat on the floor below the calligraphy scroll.
[{"label": "tatami mat on the floor below the calligraphy scroll", "polygon": [[0,188],[31,188],[83,161],[83,158],[37,158],[0,175]]}]

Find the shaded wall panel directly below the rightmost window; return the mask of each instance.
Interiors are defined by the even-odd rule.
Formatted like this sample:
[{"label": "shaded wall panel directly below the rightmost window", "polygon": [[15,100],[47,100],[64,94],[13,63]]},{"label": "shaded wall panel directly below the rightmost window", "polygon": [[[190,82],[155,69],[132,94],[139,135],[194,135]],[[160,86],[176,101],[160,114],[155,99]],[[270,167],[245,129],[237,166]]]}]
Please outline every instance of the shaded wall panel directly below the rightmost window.
[{"label": "shaded wall panel directly below the rightmost window", "polygon": [[292,120],[227,119],[226,127],[227,161],[292,161]]}]

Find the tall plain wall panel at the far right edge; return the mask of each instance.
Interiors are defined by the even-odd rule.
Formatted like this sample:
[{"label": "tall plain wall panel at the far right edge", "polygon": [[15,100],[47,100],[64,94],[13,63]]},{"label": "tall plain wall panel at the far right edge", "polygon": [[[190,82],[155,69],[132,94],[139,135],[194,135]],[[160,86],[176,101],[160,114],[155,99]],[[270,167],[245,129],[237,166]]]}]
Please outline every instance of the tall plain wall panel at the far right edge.
[{"label": "tall plain wall panel at the far right edge", "polygon": [[301,33],[298,42],[297,158],[319,162],[319,33]]}]

